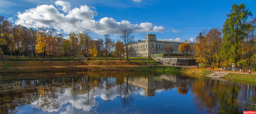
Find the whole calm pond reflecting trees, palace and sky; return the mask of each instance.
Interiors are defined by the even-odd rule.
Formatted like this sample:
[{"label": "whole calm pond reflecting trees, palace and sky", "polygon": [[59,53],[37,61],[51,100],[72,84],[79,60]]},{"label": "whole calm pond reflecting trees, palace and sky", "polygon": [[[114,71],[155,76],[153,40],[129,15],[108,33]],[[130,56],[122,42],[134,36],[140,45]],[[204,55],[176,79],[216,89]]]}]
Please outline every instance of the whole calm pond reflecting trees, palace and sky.
[{"label": "whole calm pond reflecting trees, palace and sky", "polygon": [[79,71],[0,74],[1,114],[242,114],[255,83],[183,73]]}]

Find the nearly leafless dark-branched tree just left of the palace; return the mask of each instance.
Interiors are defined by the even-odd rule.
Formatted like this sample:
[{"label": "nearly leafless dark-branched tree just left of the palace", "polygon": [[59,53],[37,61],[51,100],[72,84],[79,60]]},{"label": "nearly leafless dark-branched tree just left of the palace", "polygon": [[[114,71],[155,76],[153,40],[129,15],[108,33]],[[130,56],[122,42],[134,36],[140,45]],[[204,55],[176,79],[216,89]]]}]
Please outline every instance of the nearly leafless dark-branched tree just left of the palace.
[{"label": "nearly leafless dark-branched tree just left of the palace", "polygon": [[129,61],[128,57],[129,57],[130,52],[134,50],[134,47],[129,45],[129,43],[133,40],[134,40],[134,36],[131,34],[130,31],[122,30],[119,41],[122,41],[122,43],[124,44],[124,49],[125,49],[125,52],[126,52],[127,61]]}]

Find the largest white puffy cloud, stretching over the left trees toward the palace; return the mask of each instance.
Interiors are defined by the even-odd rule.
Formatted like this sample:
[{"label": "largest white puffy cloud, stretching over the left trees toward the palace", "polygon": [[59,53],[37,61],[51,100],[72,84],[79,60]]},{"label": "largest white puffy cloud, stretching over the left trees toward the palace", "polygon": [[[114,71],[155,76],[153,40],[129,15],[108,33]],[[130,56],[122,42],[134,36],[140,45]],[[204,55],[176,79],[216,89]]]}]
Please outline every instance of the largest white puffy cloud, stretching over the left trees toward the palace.
[{"label": "largest white puffy cloud, stretching over the left trees toward the palace", "polygon": [[[72,6],[66,1],[56,1],[54,5],[38,5],[25,12],[18,12],[16,24],[27,27],[53,27],[64,33],[82,32],[89,30],[97,34],[120,34],[122,29],[130,30],[133,33],[164,33],[163,26],[154,26],[152,23],[143,22],[140,24],[131,24],[129,21],[122,20],[117,22],[113,18],[105,17],[99,21],[94,20],[98,15],[94,7],[81,5],[79,8],[70,9]],[[66,14],[63,14],[59,10]]]}]

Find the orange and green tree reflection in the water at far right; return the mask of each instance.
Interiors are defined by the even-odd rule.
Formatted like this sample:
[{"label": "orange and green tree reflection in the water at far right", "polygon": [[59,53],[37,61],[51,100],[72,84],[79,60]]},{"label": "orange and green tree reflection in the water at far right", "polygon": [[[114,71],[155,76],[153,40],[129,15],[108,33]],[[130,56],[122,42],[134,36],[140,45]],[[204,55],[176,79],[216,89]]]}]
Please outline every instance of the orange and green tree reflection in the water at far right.
[{"label": "orange and green tree reflection in the water at far right", "polygon": [[[256,110],[256,88],[225,80],[195,80],[191,86],[194,102],[200,111],[208,113],[241,114],[244,110]],[[215,112],[213,112],[215,111]]]}]

